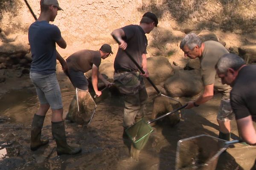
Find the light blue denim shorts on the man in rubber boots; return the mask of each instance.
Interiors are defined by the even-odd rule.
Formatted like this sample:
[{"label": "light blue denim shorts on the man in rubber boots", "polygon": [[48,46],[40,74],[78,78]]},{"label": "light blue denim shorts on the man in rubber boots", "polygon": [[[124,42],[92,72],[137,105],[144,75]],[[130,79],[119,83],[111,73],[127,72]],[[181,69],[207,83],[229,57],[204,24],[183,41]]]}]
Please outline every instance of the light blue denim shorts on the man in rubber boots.
[{"label": "light blue denim shorts on the man in rubber boots", "polygon": [[35,85],[35,90],[41,105],[49,104],[52,110],[63,108],[61,102],[61,88],[55,73],[42,75],[30,72],[30,79]]}]

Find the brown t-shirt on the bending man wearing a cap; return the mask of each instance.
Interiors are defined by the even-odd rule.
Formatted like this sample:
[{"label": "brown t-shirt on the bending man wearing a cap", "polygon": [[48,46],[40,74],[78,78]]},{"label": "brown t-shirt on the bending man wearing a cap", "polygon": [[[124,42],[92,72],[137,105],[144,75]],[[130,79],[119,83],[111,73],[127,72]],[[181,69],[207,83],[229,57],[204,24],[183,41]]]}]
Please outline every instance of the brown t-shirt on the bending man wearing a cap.
[{"label": "brown t-shirt on the bending man wearing a cap", "polygon": [[99,51],[80,50],[67,59],[67,66],[75,71],[87,72],[93,68],[93,64],[99,68],[101,57]]}]

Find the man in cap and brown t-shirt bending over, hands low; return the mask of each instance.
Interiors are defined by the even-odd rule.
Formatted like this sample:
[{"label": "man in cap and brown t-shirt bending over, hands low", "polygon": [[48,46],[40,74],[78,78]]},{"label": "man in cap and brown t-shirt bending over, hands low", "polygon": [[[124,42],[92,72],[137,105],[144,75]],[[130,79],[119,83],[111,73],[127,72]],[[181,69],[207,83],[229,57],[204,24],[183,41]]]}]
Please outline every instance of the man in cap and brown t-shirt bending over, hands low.
[{"label": "man in cap and brown t-shirt bending over, hands low", "polygon": [[[102,92],[98,90],[98,78],[104,82],[105,86],[109,87],[112,84],[108,82],[102,74],[99,73],[99,65],[101,59],[105,59],[113,54],[111,46],[104,44],[98,51],[93,50],[80,50],[72,54],[67,58],[68,72],[66,74],[70,78],[73,86],[79,90],[79,100],[83,99],[88,93],[88,81],[84,76],[84,73],[92,69],[92,84],[93,90],[97,96],[101,96]],[[70,109],[67,113],[66,119],[73,121],[71,113],[73,112],[73,105],[76,104],[76,98],[74,97],[70,103]]]}]

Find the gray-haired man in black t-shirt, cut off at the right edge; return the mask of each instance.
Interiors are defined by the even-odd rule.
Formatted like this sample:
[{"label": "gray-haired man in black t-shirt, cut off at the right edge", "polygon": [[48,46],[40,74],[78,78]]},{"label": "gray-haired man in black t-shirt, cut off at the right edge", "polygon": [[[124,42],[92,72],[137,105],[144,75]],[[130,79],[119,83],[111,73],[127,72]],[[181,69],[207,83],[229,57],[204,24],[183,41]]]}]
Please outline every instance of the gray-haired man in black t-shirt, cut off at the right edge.
[{"label": "gray-haired man in black t-shirt, cut off at the right edge", "polygon": [[[232,87],[230,103],[236,116],[239,135],[250,145],[256,145],[256,65],[245,65],[236,54],[224,54],[217,62],[216,71],[222,84]],[[246,85],[244,85],[246,83]]]}]

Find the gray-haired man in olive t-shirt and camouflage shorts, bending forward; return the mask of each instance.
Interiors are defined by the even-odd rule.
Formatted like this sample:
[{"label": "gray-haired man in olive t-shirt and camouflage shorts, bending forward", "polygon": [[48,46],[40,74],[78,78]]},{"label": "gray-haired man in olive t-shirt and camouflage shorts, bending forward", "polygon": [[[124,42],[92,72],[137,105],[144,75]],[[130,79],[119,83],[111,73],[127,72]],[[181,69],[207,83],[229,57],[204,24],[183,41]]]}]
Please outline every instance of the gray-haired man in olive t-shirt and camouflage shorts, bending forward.
[{"label": "gray-haired man in olive t-shirt and camouflage shorts, bending forward", "polygon": [[229,85],[221,84],[215,70],[218,59],[229,52],[216,41],[202,42],[196,34],[187,34],[180,42],[180,49],[184,51],[184,56],[190,59],[199,58],[201,63],[201,76],[204,83],[204,92],[195,101],[188,102],[187,109],[198,107],[199,105],[212,99],[214,91],[222,94],[221,105],[218,111],[217,121],[219,124],[219,138],[230,140],[230,120],[234,118],[233,111],[230,106]]}]

